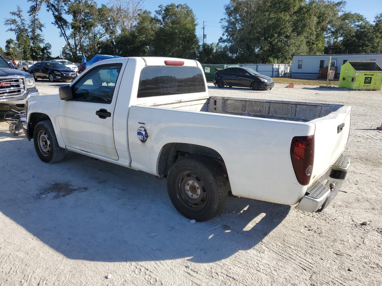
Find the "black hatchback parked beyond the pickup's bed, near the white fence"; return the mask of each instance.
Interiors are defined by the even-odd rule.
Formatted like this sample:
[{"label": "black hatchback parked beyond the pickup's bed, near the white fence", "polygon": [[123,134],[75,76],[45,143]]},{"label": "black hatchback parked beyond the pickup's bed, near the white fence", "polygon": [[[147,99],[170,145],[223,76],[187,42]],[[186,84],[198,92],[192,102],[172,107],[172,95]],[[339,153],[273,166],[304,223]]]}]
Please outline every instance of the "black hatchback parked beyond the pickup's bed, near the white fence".
[{"label": "black hatchback parked beyond the pickup's bed, near the white fence", "polygon": [[275,82],[272,77],[259,74],[249,67],[228,67],[215,73],[213,84],[220,88],[229,87],[250,87],[253,90],[271,90]]}]

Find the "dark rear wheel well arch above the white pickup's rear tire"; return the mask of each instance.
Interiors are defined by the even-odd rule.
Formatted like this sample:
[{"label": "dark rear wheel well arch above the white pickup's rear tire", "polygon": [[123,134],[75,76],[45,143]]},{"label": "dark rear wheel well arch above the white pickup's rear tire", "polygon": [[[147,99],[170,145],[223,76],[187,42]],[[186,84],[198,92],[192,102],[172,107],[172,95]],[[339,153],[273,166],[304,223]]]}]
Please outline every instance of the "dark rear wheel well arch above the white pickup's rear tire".
[{"label": "dark rear wheel well arch above the white pickup's rear tire", "polygon": [[222,156],[212,148],[189,143],[167,143],[162,147],[158,158],[158,174],[160,177],[167,177],[170,167],[179,159],[189,156],[199,155],[209,157],[217,162],[227,175],[227,169]]}]

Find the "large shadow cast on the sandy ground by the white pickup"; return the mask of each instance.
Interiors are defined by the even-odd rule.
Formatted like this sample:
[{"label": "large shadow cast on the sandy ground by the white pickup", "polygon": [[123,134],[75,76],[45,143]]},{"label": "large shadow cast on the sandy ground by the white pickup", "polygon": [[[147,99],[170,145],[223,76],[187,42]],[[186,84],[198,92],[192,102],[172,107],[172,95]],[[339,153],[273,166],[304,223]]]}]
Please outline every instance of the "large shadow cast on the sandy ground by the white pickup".
[{"label": "large shadow cast on the sandy ground by the white pickup", "polygon": [[1,149],[3,166],[23,162],[17,174],[0,168],[0,211],[70,259],[215,262],[256,246],[290,211],[229,198],[223,214],[191,224],[172,206],[165,179],[74,153],[45,164],[26,139],[1,141]]}]

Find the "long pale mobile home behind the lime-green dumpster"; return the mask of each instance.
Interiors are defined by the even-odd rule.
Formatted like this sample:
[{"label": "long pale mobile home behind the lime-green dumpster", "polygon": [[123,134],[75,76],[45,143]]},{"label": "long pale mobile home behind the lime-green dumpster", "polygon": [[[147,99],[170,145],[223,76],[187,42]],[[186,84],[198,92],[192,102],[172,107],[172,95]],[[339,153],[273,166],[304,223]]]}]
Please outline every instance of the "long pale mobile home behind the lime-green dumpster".
[{"label": "long pale mobile home behind the lime-green dumpster", "polygon": [[337,79],[340,76],[341,66],[346,61],[375,61],[382,66],[382,53],[380,54],[340,54],[340,55],[297,55],[293,56],[291,68],[292,78],[317,79],[319,69],[328,66],[329,56],[332,56],[331,66],[337,66]]}]

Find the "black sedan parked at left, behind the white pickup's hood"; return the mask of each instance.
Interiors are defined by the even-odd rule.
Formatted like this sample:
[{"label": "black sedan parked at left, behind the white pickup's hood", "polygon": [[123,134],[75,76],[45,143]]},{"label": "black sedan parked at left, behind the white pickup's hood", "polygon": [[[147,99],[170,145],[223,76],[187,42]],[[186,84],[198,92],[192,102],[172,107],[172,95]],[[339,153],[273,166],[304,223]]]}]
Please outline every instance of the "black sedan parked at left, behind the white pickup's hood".
[{"label": "black sedan parked at left, behind the white pickup's hood", "polygon": [[49,79],[50,82],[74,80],[77,72],[63,64],[50,61],[40,61],[29,67],[28,72],[37,79]]}]

